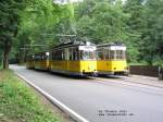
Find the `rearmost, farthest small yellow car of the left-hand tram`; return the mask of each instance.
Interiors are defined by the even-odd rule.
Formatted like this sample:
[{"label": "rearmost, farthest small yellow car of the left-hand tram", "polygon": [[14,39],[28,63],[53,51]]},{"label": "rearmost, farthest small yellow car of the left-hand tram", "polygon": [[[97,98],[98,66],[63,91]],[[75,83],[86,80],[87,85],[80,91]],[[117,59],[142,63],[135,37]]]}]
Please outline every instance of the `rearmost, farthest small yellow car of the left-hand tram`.
[{"label": "rearmost, farthest small yellow car of the left-hand tram", "polygon": [[26,69],[35,69],[35,54],[29,54],[26,57]]}]

